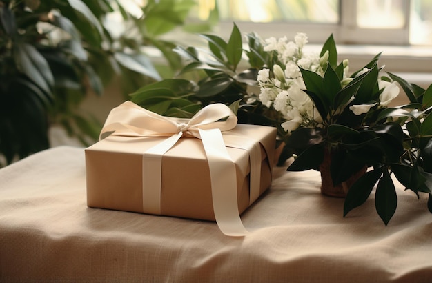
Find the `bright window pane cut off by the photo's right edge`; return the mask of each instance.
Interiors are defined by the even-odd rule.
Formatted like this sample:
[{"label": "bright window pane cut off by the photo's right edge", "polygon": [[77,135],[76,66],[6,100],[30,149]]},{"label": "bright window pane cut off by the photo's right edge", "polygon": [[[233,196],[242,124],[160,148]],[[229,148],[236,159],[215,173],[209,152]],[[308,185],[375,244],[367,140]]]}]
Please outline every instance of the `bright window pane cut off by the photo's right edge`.
[{"label": "bright window pane cut off by the photo's right edge", "polygon": [[409,41],[432,45],[432,1],[411,0]]}]

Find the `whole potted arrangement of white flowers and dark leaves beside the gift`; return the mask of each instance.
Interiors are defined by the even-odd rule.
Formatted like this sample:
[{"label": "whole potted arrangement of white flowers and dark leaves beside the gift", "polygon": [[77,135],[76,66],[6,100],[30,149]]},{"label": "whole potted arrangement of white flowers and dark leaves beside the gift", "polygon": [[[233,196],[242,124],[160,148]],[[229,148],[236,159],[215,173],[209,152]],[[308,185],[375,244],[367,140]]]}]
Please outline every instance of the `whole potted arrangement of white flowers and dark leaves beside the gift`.
[{"label": "whole potted arrangement of white flowers and dark leaves beside the gift", "polygon": [[[418,197],[428,193],[432,212],[432,87],[384,74],[380,55],[350,74],[333,36],[320,54],[305,51],[302,33],[294,41],[249,34],[246,50],[237,26],[227,42],[202,37],[208,50],[176,48],[189,62],[179,77],[144,86],[132,101],[177,117],[222,102],[240,123],[277,127],[279,164],[294,156],[288,170],[320,170],[322,192],[345,197],[344,215],[376,185],[375,207],[387,225],[397,206],[392,175]],[[242,57],[249,66],[239,72]],[[409,103],[389,107],[400,92],[396,83]]]}]

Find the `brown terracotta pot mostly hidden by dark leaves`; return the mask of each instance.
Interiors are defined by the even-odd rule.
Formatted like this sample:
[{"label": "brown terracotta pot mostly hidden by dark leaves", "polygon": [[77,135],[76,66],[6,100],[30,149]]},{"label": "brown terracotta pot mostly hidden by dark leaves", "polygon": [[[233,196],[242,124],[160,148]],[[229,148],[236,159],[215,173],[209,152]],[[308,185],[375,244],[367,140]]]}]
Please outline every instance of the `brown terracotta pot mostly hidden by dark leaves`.
[{"label": "brown terracotta pot mostly hidden by dark leaves", "polygon": [[333,186],[333,180],[330,174],[330,164],[331,164],[331,153],[328,150],[324,150],[324,160],[320,165],[321,173],[321,193],[329,197],[346,197],[348,189],[360,178],[364,173],[366,173],[367,167],[364,166],[360,171],[355,173],[353,176],[348,178],[346,182],[342,182],[337,186]]}]

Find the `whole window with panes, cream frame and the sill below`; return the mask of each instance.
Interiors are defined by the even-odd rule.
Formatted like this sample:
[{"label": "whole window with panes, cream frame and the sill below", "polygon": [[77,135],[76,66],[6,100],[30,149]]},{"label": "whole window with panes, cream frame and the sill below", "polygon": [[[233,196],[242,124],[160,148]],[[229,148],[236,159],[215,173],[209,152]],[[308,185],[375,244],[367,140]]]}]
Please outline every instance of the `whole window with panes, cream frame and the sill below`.
[{"label": "whole window with panes, cream frame and the sill below", "polygon": [[[383,52],[389,72],[407,75],[427,87],[432,83],[432,1],[430,0],[198,0],[205,19],[217,5],[215,32],[228,38],[233,21],[244,33],[293,38],[306,32],[308,46],[319,48],[331,34],[340,57],[353,70]],[[403,74],[402,74],[403,73]]]}]

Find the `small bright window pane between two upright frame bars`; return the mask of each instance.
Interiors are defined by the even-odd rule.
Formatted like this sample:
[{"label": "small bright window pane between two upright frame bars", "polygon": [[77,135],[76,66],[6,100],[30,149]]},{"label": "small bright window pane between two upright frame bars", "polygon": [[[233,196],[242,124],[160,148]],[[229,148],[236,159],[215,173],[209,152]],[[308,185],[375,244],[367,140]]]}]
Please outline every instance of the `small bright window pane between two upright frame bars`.
[{"label": "small bright window pane between two upright frame bars", "polygon": [[404,0],[357,0],[359,28],[403,28]]}]

